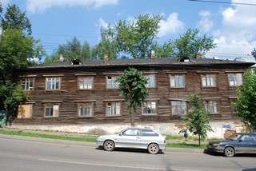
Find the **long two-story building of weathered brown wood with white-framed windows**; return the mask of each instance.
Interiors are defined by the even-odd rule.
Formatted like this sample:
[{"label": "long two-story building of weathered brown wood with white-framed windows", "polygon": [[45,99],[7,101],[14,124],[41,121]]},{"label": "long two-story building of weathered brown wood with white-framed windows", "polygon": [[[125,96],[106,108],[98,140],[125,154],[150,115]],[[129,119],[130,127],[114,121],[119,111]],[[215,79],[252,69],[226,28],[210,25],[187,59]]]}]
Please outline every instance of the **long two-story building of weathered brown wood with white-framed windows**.
[{"label": "long two-story building of weathered brown wood with white-framed windows", "polygon": [[149,79],[150,95],[138,109],[135,125],[180,123],[187,97],[206,101],[211,121],[239,121],[232,103],[237,86],[253,62],[208,58],[154,58],[56,62],[19,71],[29,96],[15,123],[27,125],[130,124],[128,102],[119,96],[119,74],[134,67]]}]

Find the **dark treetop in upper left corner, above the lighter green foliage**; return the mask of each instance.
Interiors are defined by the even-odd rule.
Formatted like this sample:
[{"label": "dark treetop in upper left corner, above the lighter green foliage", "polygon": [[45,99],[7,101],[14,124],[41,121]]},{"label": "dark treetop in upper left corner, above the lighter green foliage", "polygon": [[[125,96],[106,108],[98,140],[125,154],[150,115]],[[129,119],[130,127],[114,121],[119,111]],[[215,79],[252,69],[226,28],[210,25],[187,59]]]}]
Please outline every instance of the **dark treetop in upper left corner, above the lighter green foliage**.
[{"label": "dark treetop in upper left corner, above the lighter green foliage", "polygon": [[14,30],[22,30],[28,34],[32,34],[31,23],[29,18],[26,17],[26,13],[19,9],[18,6],[8,5],[6,14],[1,17],[2,28],[6,30],[8,27]]}]

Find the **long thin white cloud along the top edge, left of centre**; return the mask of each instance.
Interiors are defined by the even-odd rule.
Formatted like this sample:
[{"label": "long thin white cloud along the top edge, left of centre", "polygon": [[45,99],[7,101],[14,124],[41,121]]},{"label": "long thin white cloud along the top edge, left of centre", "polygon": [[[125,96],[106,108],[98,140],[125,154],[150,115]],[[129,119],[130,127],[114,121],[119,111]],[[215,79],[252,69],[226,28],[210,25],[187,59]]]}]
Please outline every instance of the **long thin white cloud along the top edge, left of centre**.
[{"label": "long thin white cloud along the top edge, left of centre", "polygon": [[46,9],[53,6],[72,7],[72,6],[85,6],[93,7],[95,9],[102,6],[117,5],[118,0],[27,0],[26,9],[30,13],[42,13]]}]

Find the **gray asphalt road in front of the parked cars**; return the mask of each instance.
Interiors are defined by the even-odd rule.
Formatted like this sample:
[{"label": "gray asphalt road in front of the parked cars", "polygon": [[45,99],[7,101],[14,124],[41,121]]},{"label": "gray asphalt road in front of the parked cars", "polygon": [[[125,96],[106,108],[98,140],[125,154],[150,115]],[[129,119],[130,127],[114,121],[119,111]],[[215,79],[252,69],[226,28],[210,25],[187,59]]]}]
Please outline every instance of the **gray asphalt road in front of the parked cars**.
[{"label": "gray asphalt road in front of the parked cars", "polygon": [[145,150],[106,152],[94,143],[0,135],[0,170],[256,170],[256,155],[223,157],[202,150],[166,149],[157,155]]}]

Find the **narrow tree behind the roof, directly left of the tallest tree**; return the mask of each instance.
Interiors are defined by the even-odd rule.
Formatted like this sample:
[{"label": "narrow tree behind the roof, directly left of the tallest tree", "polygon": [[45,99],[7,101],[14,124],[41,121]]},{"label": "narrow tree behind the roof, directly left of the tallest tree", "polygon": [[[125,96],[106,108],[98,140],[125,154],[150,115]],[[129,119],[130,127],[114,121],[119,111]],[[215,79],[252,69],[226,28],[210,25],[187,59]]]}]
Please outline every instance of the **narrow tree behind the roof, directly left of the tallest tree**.
[{"label": "narrow tree behind the roof, directly left of the tallest tree", "polygon": [[107,29],[101,29],[102,38],[97,46],[92,50],[93,58],[103,58],[104,54],[108,54],[109,59],[117,58],[117,41],[114,38],[114,30],[109,25]]}]

